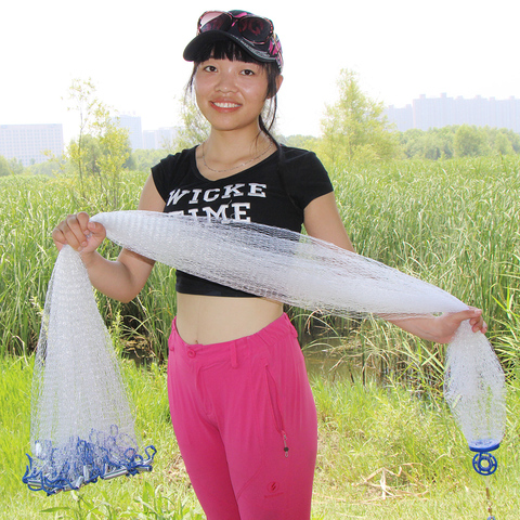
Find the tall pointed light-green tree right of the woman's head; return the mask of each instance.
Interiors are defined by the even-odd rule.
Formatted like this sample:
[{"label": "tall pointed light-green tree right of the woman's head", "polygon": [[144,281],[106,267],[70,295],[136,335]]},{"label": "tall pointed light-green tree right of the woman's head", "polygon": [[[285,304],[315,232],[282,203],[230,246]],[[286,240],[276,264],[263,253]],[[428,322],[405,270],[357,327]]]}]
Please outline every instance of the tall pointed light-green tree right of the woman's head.
[{"label": "tall pointed light-green tree right of the woman's head", "polygon": [[398,133],[384,116],[384,103],[368,98],[351,70],[341,70],[338,87],[339,100],[322,119],[321,153],[333,164],[399,156]]}]

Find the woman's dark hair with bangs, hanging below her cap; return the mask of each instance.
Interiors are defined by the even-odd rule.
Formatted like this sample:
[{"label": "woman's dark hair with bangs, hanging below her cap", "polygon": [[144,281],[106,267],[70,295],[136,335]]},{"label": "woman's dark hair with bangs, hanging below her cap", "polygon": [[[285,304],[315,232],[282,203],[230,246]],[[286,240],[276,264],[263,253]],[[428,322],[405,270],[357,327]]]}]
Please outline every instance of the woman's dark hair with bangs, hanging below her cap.
[{"label": "woman's dark hair with bangs, hanging below her cap", "polygon": [[[246,51],[242,49],[242,47],[235,44],[232,40],[222,40],[209,43],[200,49],[198,56],[193,62],[193,70],[190,77],[190,80],[186,84],[186,96],[191,95],[193,92],[193,82],[195,79],[195,74],[197,72],[197,67],[200,63],[206,62],[210,57],[214,60],[231,60],[236,62],[245,62],[245,63],[255,63],[262,67],[268,76],[268,91],[265,94],[265,101],[269,102],[264,105],[264,110],[260,114],[259,117],[259,126],[260,130],[268,134],[274,143],[276,143],[275,139],[271,134],[272,128],[274,126],[274,121],[276,119],[276,110],[278,106],[276,92],[277,92],[277,79],[280,76],[280,68],[275,62],[259,62],[250,56]],[[265,117],[265,120],[264,120]]]}]

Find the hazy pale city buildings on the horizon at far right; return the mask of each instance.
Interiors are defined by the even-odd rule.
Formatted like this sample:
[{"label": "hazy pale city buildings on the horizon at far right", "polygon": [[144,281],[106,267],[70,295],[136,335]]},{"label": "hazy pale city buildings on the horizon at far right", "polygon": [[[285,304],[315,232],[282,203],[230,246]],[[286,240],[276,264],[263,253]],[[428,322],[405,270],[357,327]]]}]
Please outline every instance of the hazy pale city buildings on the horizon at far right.
[{"label": "hazy pale city buildings on the horizon at far right", "polygon": [[464,98],[426,98],[420,95],[411,105],[396,108],[391,105],[385,110],[390,122],[404,132],[412,128],[428,130],[452,125],[474,125],[477,127],[508,128],[520,133],[520,100]]}]

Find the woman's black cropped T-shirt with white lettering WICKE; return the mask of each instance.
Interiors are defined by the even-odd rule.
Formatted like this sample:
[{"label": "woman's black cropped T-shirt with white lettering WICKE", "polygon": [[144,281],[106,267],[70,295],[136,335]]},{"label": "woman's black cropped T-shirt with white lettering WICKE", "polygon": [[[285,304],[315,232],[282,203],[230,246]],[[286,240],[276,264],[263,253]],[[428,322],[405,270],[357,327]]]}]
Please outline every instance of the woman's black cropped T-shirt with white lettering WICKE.
[{"label": "woman's black cropped T-shirt with white lettering WICKE", "polygon": [[[198,171],[195,151],[169,155],[152,168],[165,212],[256,222],[299,233],[307,205],[333,191],[325,168],[312,152],[281,145],[261,162],[210,181]],[[176,288],[191,295],[255,296],[179,270]]]}]

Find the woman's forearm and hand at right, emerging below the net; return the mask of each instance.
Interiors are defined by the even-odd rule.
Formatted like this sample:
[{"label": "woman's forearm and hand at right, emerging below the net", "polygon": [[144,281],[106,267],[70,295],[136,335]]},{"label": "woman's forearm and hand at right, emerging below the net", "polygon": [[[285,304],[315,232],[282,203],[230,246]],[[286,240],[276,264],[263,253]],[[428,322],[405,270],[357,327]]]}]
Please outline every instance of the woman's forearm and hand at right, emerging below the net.
[{"label": "woman's forearm and hand at right, emerging below the net", "polygon": [[434,317],[392,320],[392,323],[428,341],[448,343],[460,323],[466,320],[469,320],[473,333],[485,334],[487,332],[487,325],[482,317],[482,310],[472,307],[466,311],[446,312]]}]

